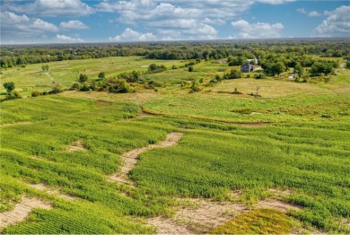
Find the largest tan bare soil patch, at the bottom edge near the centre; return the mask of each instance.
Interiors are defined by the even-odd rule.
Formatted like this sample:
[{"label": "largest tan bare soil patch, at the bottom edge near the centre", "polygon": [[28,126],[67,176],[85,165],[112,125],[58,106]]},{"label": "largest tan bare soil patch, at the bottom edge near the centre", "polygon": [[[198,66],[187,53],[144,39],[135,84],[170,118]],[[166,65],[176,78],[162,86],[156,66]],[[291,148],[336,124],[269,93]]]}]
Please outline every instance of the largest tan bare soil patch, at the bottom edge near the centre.
[{"label": "largest tan bare soil patch, at the bottom edge near the centre", "polygon": [[203,199],[189,200],[196,206],[179,208],[173,218],[156,217],[148,220],[148,224],[158,227],[159,234],[203,234],[248,211],[248,208],[241,204],[219,203]]}]

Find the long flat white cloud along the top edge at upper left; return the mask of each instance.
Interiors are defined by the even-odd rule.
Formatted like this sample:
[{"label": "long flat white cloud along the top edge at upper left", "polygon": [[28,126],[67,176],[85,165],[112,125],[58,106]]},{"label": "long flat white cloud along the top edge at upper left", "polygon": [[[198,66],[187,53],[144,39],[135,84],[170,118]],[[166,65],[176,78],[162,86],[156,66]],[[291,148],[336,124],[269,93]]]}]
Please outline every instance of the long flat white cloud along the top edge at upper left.
[{"label": "long flat white cloud along the top edge at upper left", "polygon": [[46,17],[60,15],[76,17],[94,13],[91,6],[80,0],[35,0],[29,4],[4,4],[4,9]]}]

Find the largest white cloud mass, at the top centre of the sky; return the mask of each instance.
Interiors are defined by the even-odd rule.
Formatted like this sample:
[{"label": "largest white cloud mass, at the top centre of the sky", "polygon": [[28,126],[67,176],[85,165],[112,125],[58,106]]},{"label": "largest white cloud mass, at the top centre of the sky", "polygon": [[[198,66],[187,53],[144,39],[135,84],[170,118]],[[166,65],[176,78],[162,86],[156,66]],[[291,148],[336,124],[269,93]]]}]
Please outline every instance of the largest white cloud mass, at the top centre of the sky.
[{"label": "largest white cloud mass, at the top centre of the sky", "polygon": [[[157,31],[160,34],[159,39],[215,39],[217,31],[211,25],[225,23],[222,19],[224,11],[232,15],[235,12],[232,9],[242,8],[233,7],[227,11],[227,4],[236,6],[236,3],[223,2],[217,0],[196,1],[195,3],[184,0],[103,1],[98,4],[97,9],[105,12],[116,11],[118,22],[135,26],[142,24],[144,27]],[[207,5],[208,3],[210,5]],[[225,5],[223,7],[225,10],[216,13],[217,7],[214,7],[213,4],[218,4],[219,7]],[[208,13],[216,16],[211,17]]]}]

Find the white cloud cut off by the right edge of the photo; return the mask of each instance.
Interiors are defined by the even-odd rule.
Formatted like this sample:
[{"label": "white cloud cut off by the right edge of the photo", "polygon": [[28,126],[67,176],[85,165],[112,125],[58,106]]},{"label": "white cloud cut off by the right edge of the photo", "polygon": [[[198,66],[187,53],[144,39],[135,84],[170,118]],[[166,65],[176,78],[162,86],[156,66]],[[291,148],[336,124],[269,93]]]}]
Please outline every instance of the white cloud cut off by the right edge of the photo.
[{"label": "white cloud cut off by the right edge of the photo", "polygon": [[314,30],[316,35],[350,35],[350,5],[342,5],[332,12]]}]

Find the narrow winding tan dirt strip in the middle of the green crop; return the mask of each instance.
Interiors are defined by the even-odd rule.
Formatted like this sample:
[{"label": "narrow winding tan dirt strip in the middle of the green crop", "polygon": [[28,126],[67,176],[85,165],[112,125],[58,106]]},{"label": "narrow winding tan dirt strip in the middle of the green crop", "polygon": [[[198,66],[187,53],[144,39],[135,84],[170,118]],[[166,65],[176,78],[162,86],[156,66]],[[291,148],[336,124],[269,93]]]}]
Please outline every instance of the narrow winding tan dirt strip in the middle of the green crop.
[{"label": "narrow winding tan dirt strip in the middle of the green crop", "polygon": [[121,170],[116,174],[110,175],[109,180],[118,181],[123,184],[134,185],[134,183],[127,177],[127,174],[136,166],[138,156],[143,152],[147,152],[155,148],[166,148],[178,144],[179,140],[182,138],[182,135],[182,133],[172,132],[167,135],[166,140],[158,144],[150,144],[146,147],[124,153],[122,155],[124,164],[122,165]]}]

